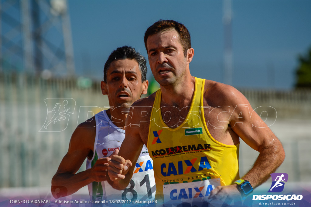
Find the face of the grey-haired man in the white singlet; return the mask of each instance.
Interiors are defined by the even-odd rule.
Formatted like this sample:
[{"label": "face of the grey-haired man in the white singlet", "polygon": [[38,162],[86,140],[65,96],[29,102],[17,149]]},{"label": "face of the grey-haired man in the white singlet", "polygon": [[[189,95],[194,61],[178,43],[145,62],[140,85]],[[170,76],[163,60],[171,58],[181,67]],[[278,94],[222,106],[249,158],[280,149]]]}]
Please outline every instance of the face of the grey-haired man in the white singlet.
[{"label": "face of the grey-haired man in the white singlet", "polygon": [[107,70],[107,81],[102,81],[101,89],[108,95],[109,105],[131,106],[146,94],[148,81],[142,83],[142,74],[137,61],[125,59],[113,61]]}]

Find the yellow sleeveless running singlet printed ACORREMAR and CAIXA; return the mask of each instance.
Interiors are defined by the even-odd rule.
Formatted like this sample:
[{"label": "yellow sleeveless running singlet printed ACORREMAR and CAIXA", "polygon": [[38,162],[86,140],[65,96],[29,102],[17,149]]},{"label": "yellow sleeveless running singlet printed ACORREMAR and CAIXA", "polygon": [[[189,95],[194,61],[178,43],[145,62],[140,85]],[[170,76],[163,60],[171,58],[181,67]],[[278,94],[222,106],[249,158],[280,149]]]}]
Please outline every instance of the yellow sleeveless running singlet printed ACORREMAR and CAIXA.
[{"label": "yellow sleeveless running singlet printed ACORREMAR and CAIXA", "polygon": [[156,197],[163,195],[166,184],[220,178],[221,185],[230,185],[239,179],[239,144],[222,144],[207,129],[203,111],[204,83],[205,79],[195,78],[188,115],[183,124],[174,129],[167,127],[162,119],[161,89],[156,92],[147,143],[154,164]]}]

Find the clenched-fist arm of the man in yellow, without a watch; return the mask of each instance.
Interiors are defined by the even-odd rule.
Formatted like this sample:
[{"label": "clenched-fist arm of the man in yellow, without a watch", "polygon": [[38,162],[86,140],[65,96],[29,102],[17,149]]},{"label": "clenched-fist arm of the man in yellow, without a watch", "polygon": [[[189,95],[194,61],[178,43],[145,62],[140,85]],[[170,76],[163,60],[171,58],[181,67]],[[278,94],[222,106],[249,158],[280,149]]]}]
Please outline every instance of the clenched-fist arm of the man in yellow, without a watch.
[{"label": "clenched-fist arm of the man in yellow, without a watch", "polygon": [[143,144],[147,146],[150,113],[154,95],[133,103],[133,110],[127,116],[125,139],[121,145],[119,154],[111,157],[108,167],[110,178],[108,182],[115,189],[121,190],[128,186],[135,169],[135,163],[142,151],[142,146]]}]

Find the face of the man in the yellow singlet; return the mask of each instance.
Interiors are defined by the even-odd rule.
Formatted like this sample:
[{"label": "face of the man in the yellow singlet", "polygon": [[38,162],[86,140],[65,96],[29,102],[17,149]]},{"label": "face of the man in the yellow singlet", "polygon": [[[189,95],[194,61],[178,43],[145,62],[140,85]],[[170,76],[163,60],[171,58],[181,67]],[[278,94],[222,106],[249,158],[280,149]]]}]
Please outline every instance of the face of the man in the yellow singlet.
[{"label": "face of the man in the yellow singlet", "polygon": [[185,73],[187,61],[176,30],[149,36],[147,50],[152,74],[160,85],[174,84]]}]

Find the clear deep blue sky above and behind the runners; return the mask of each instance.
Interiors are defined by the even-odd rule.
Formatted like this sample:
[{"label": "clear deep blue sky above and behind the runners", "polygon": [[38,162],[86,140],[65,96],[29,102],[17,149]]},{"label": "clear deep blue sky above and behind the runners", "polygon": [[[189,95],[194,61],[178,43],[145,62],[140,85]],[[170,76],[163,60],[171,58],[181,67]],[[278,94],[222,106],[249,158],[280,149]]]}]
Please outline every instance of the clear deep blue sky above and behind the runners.
[{"label": "clear deep blue sky above and behind the runners", "polygon": [[[102,78],[109,54],[123,45],[144,56],[144,32],[159,19],[183,23],[191,34],[194,76],[224,82],[223,5],[211,1],[69,0],[78,75]],[[311,1],[232,2],[232,85],[290,89],[297,56],[311,47]],[[147,56],[146,56],[147,57]],[[148,64],[148,74],[151,71]]]}]

